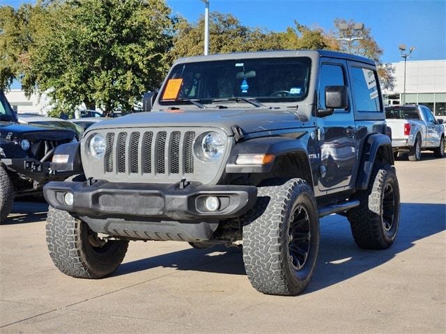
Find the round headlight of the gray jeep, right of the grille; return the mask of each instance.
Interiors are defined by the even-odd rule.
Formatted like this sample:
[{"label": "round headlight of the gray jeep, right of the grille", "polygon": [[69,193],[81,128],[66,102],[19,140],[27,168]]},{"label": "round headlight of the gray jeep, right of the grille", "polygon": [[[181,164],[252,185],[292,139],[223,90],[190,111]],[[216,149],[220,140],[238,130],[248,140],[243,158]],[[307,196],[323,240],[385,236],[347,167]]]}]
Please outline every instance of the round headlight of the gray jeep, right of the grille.
[{"label": "round headlight of the gray jeep, right of the grille", "polygon": [[195,141],[194,152],[201,161],[216,161],[222,157],[224,146],[224,136],[218,132],[205,132]]}]

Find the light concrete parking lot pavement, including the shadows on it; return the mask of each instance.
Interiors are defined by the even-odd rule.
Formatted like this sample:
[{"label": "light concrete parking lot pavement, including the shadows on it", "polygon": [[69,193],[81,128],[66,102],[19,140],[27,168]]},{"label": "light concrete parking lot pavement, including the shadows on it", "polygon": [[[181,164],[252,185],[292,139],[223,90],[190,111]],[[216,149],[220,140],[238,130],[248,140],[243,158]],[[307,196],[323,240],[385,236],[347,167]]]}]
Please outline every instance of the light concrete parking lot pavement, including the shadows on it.
[{"label": "light concrete parking lot pavement, including the shadows on it", "polygon": [[316,273],[296,297],[256,292],[240,250],[173,241],[131,243],[112,277],[70,278],[47,254],[47,206],[17,202],[0,226],[0,333],[445,333],[446,159],[396,166],[392,248],[360,250],[346,218],[323,218]]}]

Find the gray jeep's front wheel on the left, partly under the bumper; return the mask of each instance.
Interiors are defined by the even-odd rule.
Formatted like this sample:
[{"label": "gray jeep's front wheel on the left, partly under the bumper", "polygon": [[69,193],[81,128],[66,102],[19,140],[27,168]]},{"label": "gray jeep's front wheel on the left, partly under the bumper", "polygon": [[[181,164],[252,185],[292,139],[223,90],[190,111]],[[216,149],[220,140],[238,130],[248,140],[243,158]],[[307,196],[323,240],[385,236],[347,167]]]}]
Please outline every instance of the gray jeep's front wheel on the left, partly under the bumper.
[{"label": "gray jeep's front wheel on the left, partly under the bumper", "polygon": [[56,267],[76,278],[102,278],[124,259],[128,241],[106,240],[68,212],[49,207],[47,246]]}]

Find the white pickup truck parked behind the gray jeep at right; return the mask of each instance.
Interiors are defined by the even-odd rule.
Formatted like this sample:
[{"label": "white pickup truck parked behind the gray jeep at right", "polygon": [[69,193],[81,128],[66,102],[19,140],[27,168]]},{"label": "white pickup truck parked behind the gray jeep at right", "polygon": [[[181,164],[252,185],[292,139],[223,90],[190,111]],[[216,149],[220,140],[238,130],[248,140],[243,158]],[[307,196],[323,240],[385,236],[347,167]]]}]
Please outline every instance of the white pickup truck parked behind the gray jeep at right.
[{"label": "white pickup truck parked behind the gray jeep at right", "polygon": [[408,152],[410,161],[419,161],[422,150],[432,150],[435,157],[445,155],[445,127],[443,120],[436,120],[426,106],[405,104],[386,106],[387,126],[392,129],[392,147],[398,152]]}]

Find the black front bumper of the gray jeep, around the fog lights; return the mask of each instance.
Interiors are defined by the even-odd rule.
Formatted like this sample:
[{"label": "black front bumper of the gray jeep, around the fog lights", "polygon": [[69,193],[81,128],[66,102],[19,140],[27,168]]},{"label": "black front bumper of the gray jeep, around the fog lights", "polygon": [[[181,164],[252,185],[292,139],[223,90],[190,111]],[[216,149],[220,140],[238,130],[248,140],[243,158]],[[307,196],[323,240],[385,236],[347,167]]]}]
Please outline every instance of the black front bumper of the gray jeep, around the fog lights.
[{"label": "black front bumper of the gray jeep, around the fog lights", "polygon": [[[65,202],[72,193],[73,204]],[[245,214],[256,202],[255,186],[188,184],[113,183],[103,180],[86,182],[49,182],[43,188],[52,207],[92,218],[154,217],[176,221],[232,218]],[[207,196],[220,200],[220,209],[209,212],[204,207]]]}]

